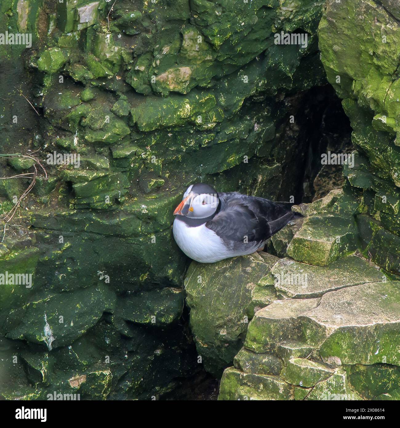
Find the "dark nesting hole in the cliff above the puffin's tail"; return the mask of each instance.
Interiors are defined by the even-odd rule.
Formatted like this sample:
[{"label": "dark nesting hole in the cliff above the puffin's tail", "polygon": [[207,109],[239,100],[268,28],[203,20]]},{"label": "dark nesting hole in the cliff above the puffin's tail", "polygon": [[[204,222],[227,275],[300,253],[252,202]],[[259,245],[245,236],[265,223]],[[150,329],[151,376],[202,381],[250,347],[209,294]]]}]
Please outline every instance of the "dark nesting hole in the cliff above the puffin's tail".
[{"label": "dark nesting hole in the cliff above the puffin's tail", "polygon": [[350,120],[330,85],[316,86],[296,95],[297,162],[288,165],[295,202],[311,202],[343,185],[342,165],[323,165],[323,153],[351,153]]}]

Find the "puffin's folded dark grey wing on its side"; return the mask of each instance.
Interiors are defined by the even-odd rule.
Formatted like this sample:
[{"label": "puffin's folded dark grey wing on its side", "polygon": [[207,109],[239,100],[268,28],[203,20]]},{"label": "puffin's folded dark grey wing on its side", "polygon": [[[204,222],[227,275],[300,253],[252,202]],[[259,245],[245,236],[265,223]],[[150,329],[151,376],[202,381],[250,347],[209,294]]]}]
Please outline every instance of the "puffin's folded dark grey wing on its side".
[{"label": "puffin's folded dark grey wing on its side", "polygon": [[207,221],[205,226],[225,242],[263,242],[271,231],[265,217],[257,217],[248,206],[241,203],[226,207]]}]

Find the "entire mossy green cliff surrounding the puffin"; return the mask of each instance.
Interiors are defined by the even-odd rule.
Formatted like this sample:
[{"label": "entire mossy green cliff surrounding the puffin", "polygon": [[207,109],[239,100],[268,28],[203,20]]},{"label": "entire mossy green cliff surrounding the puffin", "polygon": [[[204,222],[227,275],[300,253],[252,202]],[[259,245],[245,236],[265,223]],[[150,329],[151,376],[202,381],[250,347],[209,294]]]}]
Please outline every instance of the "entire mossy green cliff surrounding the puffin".
[{"label": "entire mossy green cliff surrounding the puffin", "polygon": [[[204,367],[219,399],[400,398],[399,11],[112,3],[0,4],[0,33],[32,34],[0,45],[1,176],[38,173],[2,223],[0,273],[32,284],[0,285],[0,396],[170,399]],[[350,146],[326,77],[344,179],[320,164]],[[3,219],[31,181],[0,180]],[[269,253],[188,266],[171,224],[194,181],[324,197]]]}]

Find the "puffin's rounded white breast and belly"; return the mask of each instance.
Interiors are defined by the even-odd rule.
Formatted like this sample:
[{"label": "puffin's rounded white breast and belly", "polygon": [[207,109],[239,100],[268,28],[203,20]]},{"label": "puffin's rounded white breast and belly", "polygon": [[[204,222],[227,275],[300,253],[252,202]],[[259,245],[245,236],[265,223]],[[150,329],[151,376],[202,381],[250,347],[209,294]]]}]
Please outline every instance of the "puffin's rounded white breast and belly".
[{"label": "puffin's rounded white breast and belly", "polygon": [[183,221],[175,218],[173,232],[179,248],[197,262],[219,262],[219,260],[232,256],[222,239],[205,224],[189,227]]}]

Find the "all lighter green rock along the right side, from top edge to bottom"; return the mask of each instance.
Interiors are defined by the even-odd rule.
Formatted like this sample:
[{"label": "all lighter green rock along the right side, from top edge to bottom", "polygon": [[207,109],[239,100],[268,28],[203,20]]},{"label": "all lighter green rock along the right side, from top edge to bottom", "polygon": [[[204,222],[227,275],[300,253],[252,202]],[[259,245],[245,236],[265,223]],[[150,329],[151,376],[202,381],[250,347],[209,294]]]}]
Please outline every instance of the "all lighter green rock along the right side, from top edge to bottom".
[{"label": "all lighter green rock along the right side, from top edge to bottom", "polygon": [[399,397],[398,24],[390,2],[326,3],[321,59],[356,151],[344,189],[272,238],[277,298],[252,317],[221,400]]}]

